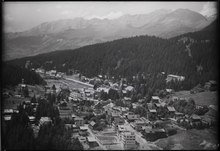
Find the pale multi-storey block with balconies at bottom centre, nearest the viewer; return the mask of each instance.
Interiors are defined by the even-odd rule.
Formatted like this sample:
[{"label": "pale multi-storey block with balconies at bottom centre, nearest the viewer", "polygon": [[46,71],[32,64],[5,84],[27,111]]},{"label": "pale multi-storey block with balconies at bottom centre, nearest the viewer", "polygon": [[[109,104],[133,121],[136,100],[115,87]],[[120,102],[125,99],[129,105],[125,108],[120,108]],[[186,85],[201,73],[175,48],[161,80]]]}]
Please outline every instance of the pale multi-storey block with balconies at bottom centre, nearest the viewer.
[{"label": "pale multi-storey block with balconies at bottom centre, nearest the viewer", "polygon": [[134,132],[123,132],[122,134],[122,143],[125,150],[135,149],[136,140]]}]

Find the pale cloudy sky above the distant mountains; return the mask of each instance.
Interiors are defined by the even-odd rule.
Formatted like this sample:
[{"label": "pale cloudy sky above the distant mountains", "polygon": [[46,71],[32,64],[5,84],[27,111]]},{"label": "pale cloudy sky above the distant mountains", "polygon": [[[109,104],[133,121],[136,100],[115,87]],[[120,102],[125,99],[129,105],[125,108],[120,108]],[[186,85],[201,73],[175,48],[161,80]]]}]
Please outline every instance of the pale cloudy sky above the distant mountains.
[{"label": "pale cloudy sky above the distant mountains", "polygon": [[203,15],[217,12],[216,2],[4,2],[4,31],[21,32],[43,22],[83,17],[114,19],[157,9],[190,9]]}]

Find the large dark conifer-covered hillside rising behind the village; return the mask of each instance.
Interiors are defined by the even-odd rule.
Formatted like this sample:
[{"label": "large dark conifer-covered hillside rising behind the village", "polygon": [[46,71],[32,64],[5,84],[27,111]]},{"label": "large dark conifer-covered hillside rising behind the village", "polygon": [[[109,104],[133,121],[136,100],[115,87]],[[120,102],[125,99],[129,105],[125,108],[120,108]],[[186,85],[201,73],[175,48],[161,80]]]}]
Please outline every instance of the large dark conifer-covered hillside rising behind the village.
[{"label": "large dark conifer-covered hillside rising behind the village", "polygon": [[24,66],[25,61],[30,60],[34,67],[40,67],[52,61],[51,67],[57,70],[73,68],[88,77],[108,73],[116,78],[131,79],[137,73],[144,73],[148,82],[153,81],[150,83],[157,83],[158,74],[165,72],[185,76],[183,88],[189,89],[198,83],[217,79],[217,40],[213,36],[216,30],[207,29],[209,27],[172,39],[154,36],[124,38],[16,59],[10,63]]}]

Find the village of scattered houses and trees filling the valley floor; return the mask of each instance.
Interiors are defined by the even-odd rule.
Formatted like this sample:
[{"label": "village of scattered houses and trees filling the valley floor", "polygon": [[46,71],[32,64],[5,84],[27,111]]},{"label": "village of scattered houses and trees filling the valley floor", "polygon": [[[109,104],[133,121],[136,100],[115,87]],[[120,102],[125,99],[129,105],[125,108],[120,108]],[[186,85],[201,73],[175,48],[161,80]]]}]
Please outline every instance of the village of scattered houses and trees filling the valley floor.
[{"label": "village of scattered houses and trees filling the valley floor", "polygon": [[[21,84],[12,90],[4,90],[4,121],[10,121],[13,113],[19,112],[17,106],[32,108],[28,115],[35,137],[40,127],[53,123],[50,117],[36,120],[38,100],[55,96],[55,105],[66,129],[77,138],[84,150],[151,150],[163,149],[154,142],[175,135],[179,131],[190,129],[209,129],[217,124],[217,107],[197,105],[191,98],[173,95],[173,89],[165,89],[165,95],[153,95],[149,99],[141,98],[132,102],[131,94],[135,87],[126,82],[109,80],[106,75],[97,75],[89,79],[73,71],[66,75],[56,70],[32,69],[47,82],[46,86]],[[162,73],[163,74],[163,73]],[[137,77],[134,77],[137,78]],[[166,82],[182,81],[185,77],[168,74]],[[213,91],[216,82],[195,87],[191,94]],[[33,99],[35,98],[35,99]],[[176,103],[177,102],[177,103]],[[178,105],[179,106],[178,106]],[[194,107],[192,113],[179,112],[180,106]],[[178,111],[177,111],[178,110]],[[195,112],[196,110],[196,112]],[[205,114],[201,113],[207,110]]]}]

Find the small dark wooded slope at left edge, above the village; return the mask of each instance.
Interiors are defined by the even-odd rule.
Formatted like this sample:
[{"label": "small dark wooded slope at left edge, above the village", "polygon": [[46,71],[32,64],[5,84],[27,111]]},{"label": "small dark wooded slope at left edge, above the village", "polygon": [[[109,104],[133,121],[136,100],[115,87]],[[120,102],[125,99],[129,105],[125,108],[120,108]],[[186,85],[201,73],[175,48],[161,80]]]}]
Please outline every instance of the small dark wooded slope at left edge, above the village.
[{"label": "small dark wooded slope at left edge, above the village", "polygon": [[9,64],[3,65],[2,79],[3,87],[17,85],[22,79],[26,84],[45,84],[45,81],[34,71]]}]

